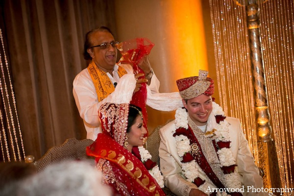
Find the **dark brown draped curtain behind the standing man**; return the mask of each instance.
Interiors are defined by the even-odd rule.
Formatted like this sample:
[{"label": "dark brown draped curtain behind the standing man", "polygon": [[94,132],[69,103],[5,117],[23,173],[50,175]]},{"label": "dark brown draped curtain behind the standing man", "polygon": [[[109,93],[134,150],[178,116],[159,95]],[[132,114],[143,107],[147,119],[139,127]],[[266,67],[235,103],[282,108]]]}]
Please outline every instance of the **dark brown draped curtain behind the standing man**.
[{"label": "dark brown draped curtain behind the standing man", "polygon": [[95,26],[116,34],[112,0],[2,0],[1,29],[12,73],[25,154],[39,159],[86,131],[72,93],[86,68],[84,36]]}]

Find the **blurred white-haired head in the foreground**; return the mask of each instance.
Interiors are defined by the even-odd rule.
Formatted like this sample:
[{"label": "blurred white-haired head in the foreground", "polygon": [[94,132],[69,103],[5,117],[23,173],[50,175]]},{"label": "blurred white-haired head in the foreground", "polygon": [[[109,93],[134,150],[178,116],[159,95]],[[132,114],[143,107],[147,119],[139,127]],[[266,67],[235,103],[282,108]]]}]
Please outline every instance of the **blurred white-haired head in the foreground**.
[{"label": "blurred white-haired head in the foreground", "polygon": [[48,166],[22,184],[20,196],[111,196],[102,174],[87,161]]}]

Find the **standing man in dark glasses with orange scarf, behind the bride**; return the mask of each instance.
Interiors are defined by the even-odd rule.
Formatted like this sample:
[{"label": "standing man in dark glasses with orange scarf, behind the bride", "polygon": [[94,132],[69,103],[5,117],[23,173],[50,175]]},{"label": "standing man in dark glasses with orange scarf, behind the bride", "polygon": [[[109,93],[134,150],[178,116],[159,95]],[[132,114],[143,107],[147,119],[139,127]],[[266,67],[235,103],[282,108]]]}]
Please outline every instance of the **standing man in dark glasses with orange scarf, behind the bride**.
[{"label": "standing man in dark glasses with orange scarf, behind the bride", "polygon": [[[73,97],[84,121],[88,139],[96,140],[97,134],[101,132],[98,108],[104,102],[110,102],[120,78],[126,73],[132,73],[130,65],[116,64],[117,44],[112,32],[105,26],[86,34],[84,58],[92,61],[73,80]],[[145,78],[138,79],[144,73],[135,75],[137,83],[134,92],[146,82],[151,92],[158,93],[159,80],[153,75],[147,57],[139,67],[144,71]]]}]

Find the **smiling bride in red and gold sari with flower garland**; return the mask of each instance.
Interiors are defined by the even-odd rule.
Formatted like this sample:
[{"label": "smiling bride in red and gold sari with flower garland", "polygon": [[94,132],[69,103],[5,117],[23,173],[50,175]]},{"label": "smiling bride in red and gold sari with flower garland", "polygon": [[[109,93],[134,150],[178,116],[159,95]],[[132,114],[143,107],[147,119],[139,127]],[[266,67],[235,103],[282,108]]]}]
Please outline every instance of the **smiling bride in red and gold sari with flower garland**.
[{"label": "smiling bride in red and gold sari with flower garland", "polygon": [[141,109],[128,103],[104,103],[98,116],[102,133],[87,147],[87,154],[96,157],[105,183],[117,195],[165,196],[159,168],[142,147],[147,130]]}]

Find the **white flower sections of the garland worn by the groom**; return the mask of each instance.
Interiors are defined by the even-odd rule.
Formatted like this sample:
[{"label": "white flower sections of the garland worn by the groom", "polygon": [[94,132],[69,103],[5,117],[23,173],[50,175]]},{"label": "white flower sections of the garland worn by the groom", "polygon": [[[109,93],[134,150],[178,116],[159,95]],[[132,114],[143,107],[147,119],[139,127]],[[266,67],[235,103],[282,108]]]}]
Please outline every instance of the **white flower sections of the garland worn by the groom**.
[{"label": "white flower sections of the garland worn by the groom", "polygon": [[[230,136],[229,136],[229,123],[224,120],[221,121],[220,123],[216,123],[215,116],[216,115],[221,115],[224,116],[224,112],[221,108],[221,106],[215,102],[213,102],[213,110],[209,116],[209,121],[214,122],[213,124],[215,127],[210,127],[211,130],[207,131],[205,134],[205,137],[211,137],[213,140],[216,142],[229,142],[230,141]],[[214,119],[213,119],[214,118]],[[175,112],[175,127],[180,128],[186,128],[188,129],[188,113],[184,108],[178,108]],[[179,157],[183,157],[183,155],[186,152],[189,152],[191,150],[191,146],[189,143],[189,139],[184,136],[176,136],[176,148],[177,148],[177,153]],[[187,146],[188,144],[188,146]],[[220,165],[222,166],[231,166],[236,164],[236,160],[234,158],[233,152],[231,151],[230,148],[221,148],[217,151],[220,159]],[[193,182],[195,178],[198,177],[199,172],[202,171],[201,168],[198,166],[195,160],[189,162],[189,163],[182,163],[182,170],[183,174],[186,176],[187,181]],[[226,187],[229,188],[241,188],[242,183],[240,182],[238,178],[238,173],[233,172],[229,174],[224,174],[224,184]],[[204,193],[206,193],[208,184],[205,182],[201,186],[198,187],[198,189]],[[204,191],[205,190],[205,191]],[[218,193],[218,196],[226,196],[226,193]]]}]

